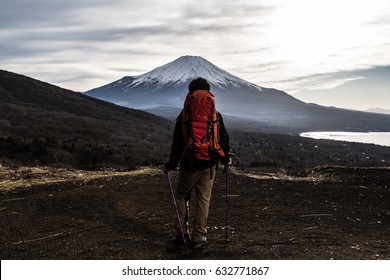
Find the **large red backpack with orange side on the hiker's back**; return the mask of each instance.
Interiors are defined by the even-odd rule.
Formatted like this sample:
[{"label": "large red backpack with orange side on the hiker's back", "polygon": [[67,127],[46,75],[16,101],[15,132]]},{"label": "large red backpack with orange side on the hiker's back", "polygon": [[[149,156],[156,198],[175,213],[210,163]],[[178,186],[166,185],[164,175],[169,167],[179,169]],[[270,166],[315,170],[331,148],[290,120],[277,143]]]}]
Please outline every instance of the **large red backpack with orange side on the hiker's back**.
[{"label": "large red backpack with orange side on the hiker's back", "polygon": [[191,153],[199,160],[225,156],[219,145],[218,117],[214,95],[207,90],[190,92],[182,110],[184,154]]}]

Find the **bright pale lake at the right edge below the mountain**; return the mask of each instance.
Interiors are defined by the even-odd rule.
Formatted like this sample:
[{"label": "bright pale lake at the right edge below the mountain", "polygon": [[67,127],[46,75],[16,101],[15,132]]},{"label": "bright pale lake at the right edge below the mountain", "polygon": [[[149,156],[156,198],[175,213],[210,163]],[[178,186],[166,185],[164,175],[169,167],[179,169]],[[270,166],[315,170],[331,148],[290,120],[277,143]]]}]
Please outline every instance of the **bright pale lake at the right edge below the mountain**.
[{"label": "bright pale lake at the right edge below the mountain", "polygon": [[315,131],[301,133],[302,137],[329,139],[390,146],[390,132]]}]

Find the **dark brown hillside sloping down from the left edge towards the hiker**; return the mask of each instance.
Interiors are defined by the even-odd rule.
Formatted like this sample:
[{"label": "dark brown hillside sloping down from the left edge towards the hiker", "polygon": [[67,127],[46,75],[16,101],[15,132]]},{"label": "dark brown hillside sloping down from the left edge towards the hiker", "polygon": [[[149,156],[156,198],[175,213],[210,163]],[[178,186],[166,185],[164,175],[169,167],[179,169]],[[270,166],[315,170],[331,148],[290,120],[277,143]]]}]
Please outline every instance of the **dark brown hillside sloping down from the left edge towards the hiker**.
[{"label": "dark brown hillside sloping down from the left edge towards the hiker", "polygon": [[0,163],[132,168],[167,158],[172,123],[0,70]]}]

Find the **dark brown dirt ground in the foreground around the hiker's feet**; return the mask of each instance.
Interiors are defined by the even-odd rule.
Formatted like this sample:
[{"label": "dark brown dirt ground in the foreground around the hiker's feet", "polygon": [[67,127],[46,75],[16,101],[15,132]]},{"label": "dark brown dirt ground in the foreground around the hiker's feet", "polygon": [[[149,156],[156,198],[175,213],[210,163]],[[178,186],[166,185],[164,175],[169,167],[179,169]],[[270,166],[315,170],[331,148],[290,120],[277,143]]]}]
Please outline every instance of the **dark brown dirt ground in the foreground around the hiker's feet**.
[{"label": "dark brown dirt ground in the foreground around the hiker's feet", "polygon": [[[175,211],[154,168],[0,168],[4,259],[390,259],[390,169],[322,167],[302,177],[233,170],[210,206],[208,246],[168,252]],[[177,173],[173,172],[175,182]]]}]

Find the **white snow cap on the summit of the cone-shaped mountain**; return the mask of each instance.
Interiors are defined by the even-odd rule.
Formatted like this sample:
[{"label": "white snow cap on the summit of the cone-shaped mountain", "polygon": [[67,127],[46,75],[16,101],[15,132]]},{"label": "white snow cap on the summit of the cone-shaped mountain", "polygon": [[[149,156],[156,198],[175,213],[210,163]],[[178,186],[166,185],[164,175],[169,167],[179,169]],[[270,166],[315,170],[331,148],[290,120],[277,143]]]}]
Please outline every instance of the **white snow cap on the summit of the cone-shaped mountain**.
[{"label": "white snow cap on the summit of the cone-shaped mountain", "polygon": [[159,86],[169,84],[180,85],[188,83],[190,80],[197,77],[205,78],[210,83],[220,88],[229,85],[240,87],[242,84],[245,84],[260,89],[260,87],[226,72],[200,56],[179,57],[170,63],[136,77],[129,86],[135,87],[140,84],[157,84]]}]

